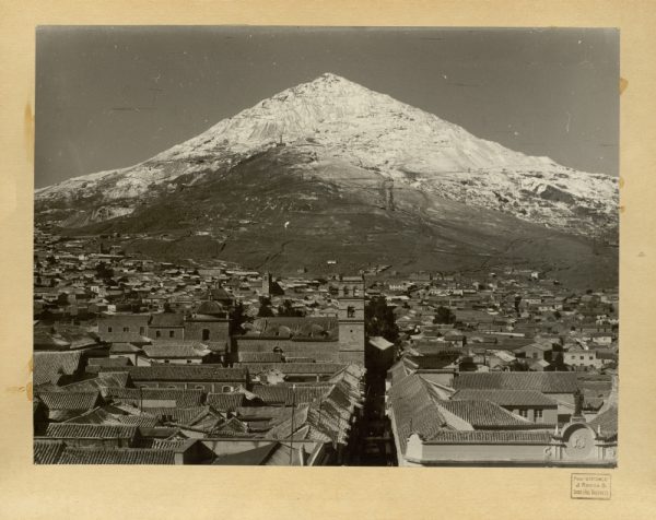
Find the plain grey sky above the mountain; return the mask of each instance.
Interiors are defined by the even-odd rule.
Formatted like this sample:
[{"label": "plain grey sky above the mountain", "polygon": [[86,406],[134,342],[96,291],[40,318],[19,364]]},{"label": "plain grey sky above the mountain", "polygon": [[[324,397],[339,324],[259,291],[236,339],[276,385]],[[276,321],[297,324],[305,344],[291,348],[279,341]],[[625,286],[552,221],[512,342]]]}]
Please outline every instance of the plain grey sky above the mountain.
[{"label": "plain grey sky above the mountain", "polygon": [[36,43],[37,188],[144,161],[324,72],[618,175],[614,29],[46,26]]}]

